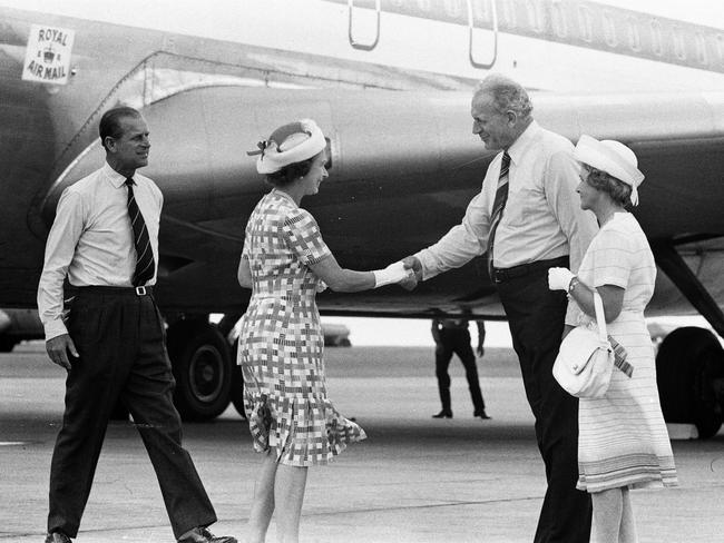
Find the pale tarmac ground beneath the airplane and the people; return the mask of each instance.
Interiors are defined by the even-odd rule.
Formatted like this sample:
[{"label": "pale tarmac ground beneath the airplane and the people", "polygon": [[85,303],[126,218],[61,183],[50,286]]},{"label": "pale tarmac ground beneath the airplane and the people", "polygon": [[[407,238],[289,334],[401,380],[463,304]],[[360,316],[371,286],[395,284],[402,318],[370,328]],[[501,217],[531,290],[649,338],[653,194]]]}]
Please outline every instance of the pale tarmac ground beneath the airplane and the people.
[{"label": "pale tarmac ground beneath the airplane and the people", "polygon": [[[531,542],[546,488],[532,417],[510,349],[478,367],[490,421],[472,417],[462,365],[451,365],[454,418],[439,409],[431,348],[326,351],[330,396],[368,440],[310,470],[303,543]],[[42,542],[48,474],[62,415],[63,371],[41,342],[0,355],[0,542]],[[185,424],[184,444],[216,507],[216,534],[244,541],[260,456],[229,407]],[[633,495],[640,543],[724,541],[724,432],[673,443],[679,486]],[[130,423],[112,423],[79,543],[174,541],[156,477]],[[267,541],[276,541],[275,525]]]}]

